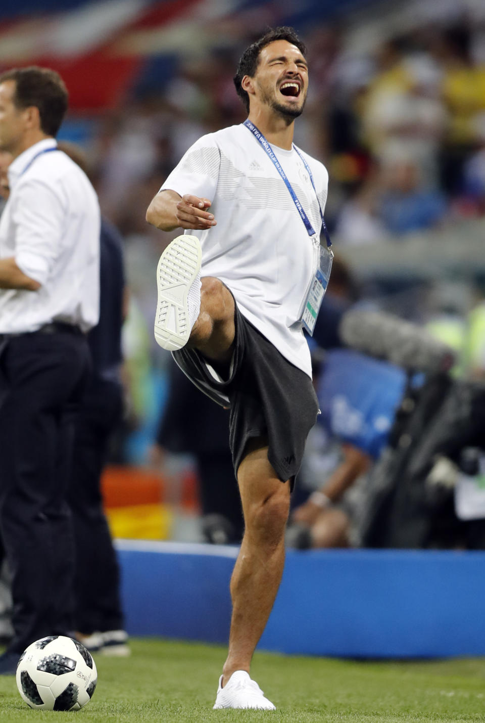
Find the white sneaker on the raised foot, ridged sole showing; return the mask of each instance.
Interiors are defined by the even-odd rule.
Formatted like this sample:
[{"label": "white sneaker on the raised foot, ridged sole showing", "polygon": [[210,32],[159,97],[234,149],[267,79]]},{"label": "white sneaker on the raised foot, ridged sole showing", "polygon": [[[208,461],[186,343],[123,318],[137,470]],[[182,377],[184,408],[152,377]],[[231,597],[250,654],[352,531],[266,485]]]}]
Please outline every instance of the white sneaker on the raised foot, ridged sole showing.
[{"label": "white sneaker on the raised foot, ridged sole showing", "polygon": [[168,351],[186,345],[199,316],[201,258],[199,239],[188,234],[173,239],[160,256],[154,333]]}]

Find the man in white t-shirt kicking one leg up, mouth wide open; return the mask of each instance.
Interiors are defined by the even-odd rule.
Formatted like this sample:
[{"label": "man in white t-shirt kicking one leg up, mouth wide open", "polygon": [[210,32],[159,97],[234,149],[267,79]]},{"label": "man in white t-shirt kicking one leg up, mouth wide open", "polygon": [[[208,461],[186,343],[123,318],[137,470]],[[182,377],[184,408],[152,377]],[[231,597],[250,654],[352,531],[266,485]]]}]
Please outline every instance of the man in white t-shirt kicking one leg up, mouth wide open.
[{"label": "man in white t-shirt kicking one leg up, mouth wide open", "polygon": [[302,317],[319,266],[328,176],[293,145],[308,88],[305,54],[288,27],[252,43],[234,78],[249,122],[194,143],[147,210],[163,231],[188,231],[160,257],[155,338],[231,410],[245,531],[215,708],[275,707],[249,666],[280,585],[290,491],[318,411]]}]

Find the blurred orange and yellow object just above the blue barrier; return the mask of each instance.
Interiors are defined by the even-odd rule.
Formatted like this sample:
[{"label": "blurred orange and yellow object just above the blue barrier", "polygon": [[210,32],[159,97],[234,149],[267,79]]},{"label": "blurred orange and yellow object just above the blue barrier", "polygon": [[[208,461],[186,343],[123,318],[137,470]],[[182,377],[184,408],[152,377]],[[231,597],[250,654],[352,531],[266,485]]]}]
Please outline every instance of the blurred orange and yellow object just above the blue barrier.
[{"label": "blurred orange and yellow object just above the blue barrier", "polygon": [[168,479],[144,467],[106,467],[101,491],[112,536],[170,539],[176,508],[185,513],[199,510],[197,484],[193,471]]}]

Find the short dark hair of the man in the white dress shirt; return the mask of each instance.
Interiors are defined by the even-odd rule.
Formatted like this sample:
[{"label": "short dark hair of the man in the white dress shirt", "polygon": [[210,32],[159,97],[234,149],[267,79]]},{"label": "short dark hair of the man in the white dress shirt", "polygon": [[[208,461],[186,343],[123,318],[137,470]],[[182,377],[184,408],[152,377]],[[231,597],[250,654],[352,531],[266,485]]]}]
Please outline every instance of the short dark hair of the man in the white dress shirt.
[{"label": "short dark hair of the man in the white dress shirt", "polygon": [[61,76],[55,70],[30,66],[13,68],[0,74],[0,83],[13,80],[14,105],[17,108],[35,106],[39,109],[40,128],[56,136],[66,114],[68,94]]}]

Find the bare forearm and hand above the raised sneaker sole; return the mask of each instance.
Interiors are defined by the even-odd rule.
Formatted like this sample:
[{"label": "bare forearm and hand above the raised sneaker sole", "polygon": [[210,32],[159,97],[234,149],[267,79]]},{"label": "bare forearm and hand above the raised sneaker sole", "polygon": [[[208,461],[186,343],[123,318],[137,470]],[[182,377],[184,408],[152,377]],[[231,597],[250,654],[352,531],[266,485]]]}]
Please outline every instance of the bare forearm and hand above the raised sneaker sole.
[{"label": "bare forearm and hand above the raised sneaker sole", "polygon": [[174,228],[206,231],[215,226],[212,213],[208,213],[212,201],[186,194],[180,196],[175,191],[158,192],[147,210],[147,221],[162,231],[173,231]]}]

